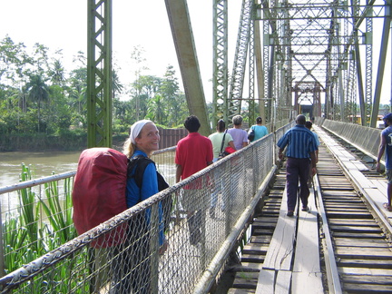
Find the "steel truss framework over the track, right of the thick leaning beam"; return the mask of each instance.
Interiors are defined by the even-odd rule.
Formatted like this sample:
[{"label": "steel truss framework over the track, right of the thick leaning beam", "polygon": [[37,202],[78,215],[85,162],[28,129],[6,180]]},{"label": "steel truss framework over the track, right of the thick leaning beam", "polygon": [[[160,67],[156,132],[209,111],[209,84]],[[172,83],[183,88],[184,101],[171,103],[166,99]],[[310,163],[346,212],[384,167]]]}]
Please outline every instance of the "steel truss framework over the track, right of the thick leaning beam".
[{"label": "steel truss framework over the track, right of the thick leaning beam", "polygon": [[[226,1],[215,1],[215,6]],[[325,115],[334,120],[354,122],[359,103],[361,122],[364,125],[373,122],[374,113],[378,112],[380,85],[376,86],[373,97],[373,76],[382,79],[384,68],[373,68],[373,18],[385,19],[383,39],[387,40],[390,24],[390,0],[376,5],[376,1],[336,1],[336,0],[299,0],[299,1],[258,1],[243,0],[240,27],[236,47],[235,62],[230,76],[230,91],[227,107],[216,106],[214,113],[218,117],[228,118],[241,112],[245,61],[249,54],[250,83],[254,83],[254,58],[262,60],[263,83],[259,93],[263,96],[260,104],[266,106],[266,122],[293,118],[301,110],[310,109],[310,116]],[[216,11],[218,11],[216,9]],[[256,13],[257,11],[257,13]],[[215,20],[225,19],[227,8],[222,14],[215,15]],[[262,56],[254,56],[254,22],[262,22]],[[226,20],[225,20],[226,22]],[[215,40],[218,36],[227,42],[225,25],[214,27]],[[227,44],[227,43],[226,43]],[[225,48],[220,44],[220,48]],[[222,54],[226,49],[218,50],[214,46],[214,91],[217,99],[225,99],[224,79],[227,60]],[[387,51],[387,41],[383,42],[381,52]],[[361,59],[365,63],[361,63]],[[381,57],[380,57],[381,58]],[[384,57],[385,58],[385,57]],[[363,64],[363,65],[361,65]],[[363,74],[364,73],[364,74]],[[365,77],[365,79],[364,79]],[[220,83],[224,81],[224,83]],[[380,82],[381,83],[381,82]],[[379,90],[378,90],[379,92]],[[255,103],[253,85],[249,89],[250,117]],[[321,100],[324,98],[324,106]],[[301,107],[302,103],[312,107]],[[377,110],[373,109],[373,105]],[[261,107],[260,107],[261,109]],[[219,110],[219,111],[218,111]],[[374,111],[373,111],[374,110]],[[370,123],[370,117],[372,122]]]}]

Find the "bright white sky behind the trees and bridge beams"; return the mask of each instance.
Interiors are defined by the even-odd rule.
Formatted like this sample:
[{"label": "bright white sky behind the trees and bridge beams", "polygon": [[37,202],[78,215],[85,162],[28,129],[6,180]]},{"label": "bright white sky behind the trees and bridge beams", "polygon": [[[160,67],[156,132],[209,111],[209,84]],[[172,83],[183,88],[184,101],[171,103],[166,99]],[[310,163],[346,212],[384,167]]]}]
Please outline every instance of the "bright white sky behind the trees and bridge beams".
[{"label": "bright white sky behind the trees and bridge beams", "polygon": [[[229,67],[232,67],[240,6],[242,0],[229,1]],[[73,55],[87,51],[87,1],[83,0],[0,0],[0,38],[8,34],[15,43],[28,48],[44,44],[52,52],[63,49],[65,69],[73,69]],[[188,0],[191,25],[199,58],[201,79],[206,100],[212,100],[212,1]],[[374,25],[374,27],[378,27]],[[377,31],[374,39],[377,40]],[[390,43],[390,41],[389,41]],[[119,70],[122,84],[135,79],[131,53],[142,47],[145,65],[142,74],[162,77],[168,65],[174,66],[181,84],[181,73],[171,37],[166,6],[163,0],[113,0],[113,64]],[[377,68],[377,45],[374,48]],[[387,54],[387,64],[390,64]],[[384,80],[381,103],[389,103],[390,65]],[[388,80],[389,79],[389,80]],[[387,81],[388,80],[388,81]],[[373,84],[375,84],[374,81]]]}]

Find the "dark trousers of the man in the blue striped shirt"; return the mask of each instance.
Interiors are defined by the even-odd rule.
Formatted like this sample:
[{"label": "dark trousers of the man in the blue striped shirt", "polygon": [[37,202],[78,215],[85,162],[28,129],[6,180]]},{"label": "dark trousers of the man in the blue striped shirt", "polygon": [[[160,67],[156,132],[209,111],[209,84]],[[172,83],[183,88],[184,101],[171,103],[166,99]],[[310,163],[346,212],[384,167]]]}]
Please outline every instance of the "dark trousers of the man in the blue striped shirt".
[{"label": "dark trousers of the man in the blue striped shirt", "polygon": [[289,157],[286,163],[286,184],[288,195],[288,211],[294,211],[297,203],[297,191],[300,191],[299,198],[302,206],[308,206],[309,198],[309,158]]}]

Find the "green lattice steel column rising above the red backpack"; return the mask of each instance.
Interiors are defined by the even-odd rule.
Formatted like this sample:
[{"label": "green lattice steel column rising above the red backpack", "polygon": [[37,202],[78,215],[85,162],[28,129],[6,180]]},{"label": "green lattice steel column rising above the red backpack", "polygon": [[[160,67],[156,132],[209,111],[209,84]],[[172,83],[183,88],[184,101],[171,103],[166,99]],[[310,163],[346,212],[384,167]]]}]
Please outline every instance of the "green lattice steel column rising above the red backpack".
[{"label": "green lattice steel column rising above the red backpack", "polygon": [[87,146],[112,147],[112,0],[87,8]]}]

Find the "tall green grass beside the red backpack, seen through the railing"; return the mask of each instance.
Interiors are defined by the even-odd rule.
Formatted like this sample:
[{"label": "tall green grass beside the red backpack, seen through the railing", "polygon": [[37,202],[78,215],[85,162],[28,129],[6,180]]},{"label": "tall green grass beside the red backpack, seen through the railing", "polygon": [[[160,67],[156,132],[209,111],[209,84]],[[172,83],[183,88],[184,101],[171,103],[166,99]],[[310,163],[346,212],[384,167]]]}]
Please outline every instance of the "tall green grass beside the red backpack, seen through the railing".
[{"label": "tall green grass beside the red backpack, seen through the railing", "polygon": [[[23,163],[20,180],[29,181],[33,178],[34,172]],[[57,181],[45,183],[43,198],[39,197],[40,194],[34,188],[18,191],[17,213],[6,214],[3,221],[5,274],[77,236],[72,220],[72,187],[72,179],[64,180],[64,187],[60,187]],[[64,193],[59,188],[63,188]],[[79,265],[81,259],[87,263],[87,255],[78,257]],[[44,289],[51,293],[67,293],[72,285],[64,281],[76,266],[76,260],[64,260],[49,273],[43,274],[41,279],[32,280],[24,292],[37,293],[38,289]]]}]

